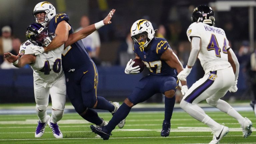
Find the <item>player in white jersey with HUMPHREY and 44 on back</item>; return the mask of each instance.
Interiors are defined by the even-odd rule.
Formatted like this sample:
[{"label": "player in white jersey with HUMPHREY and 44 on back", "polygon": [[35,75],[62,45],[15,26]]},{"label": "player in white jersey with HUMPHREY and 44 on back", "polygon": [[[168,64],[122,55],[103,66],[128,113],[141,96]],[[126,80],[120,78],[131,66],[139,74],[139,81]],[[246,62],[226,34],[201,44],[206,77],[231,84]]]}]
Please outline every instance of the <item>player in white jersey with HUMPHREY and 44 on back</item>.
[{"label": "player in white jersey with HUMPHREY and 44 on back", "polygon": [[197,103],[206,100],[211,106],[234,117],[243,129],[243,137],[252,133],[252,122],[242,117],[227,102],[221,100],[227,91],[237,91],[239,73],[238,60],[228,45],[223,29],[214,27],[214,12],[207,5],[194,9],[191,17],[192,24],[187,30],[191,42],[191,52],[186,68],[178,74],[178,79],[186,80],[197,57],[205,71],[205,75],[196,81],[183,97],[180,106],[192,117],[208,125],[213,131],[210,144],[217,144],[229,129],[211,119]]}]

